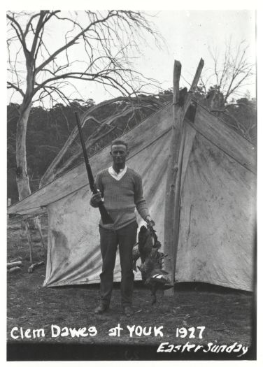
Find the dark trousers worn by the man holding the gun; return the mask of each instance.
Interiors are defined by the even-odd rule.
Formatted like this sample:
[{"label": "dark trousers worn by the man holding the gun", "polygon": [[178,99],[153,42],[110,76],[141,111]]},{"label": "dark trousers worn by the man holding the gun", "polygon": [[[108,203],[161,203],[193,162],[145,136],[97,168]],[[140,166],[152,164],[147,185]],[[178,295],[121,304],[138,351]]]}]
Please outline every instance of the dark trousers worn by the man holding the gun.
[{"label": "dark trousers worn by the man holding the gun", "polygon": [[132,270],[132,249],[136,243],[138,224],[132,222],[127,226],[117,229],[104,229],[99,226],[101,235],[102,272],[101,302],[109,305],[113,289],[113,271],[115,267],[116,251],[119,245],[120,267],[122,280],[120,286],[122,307],[131,305],[134,289],[134,272]]}]

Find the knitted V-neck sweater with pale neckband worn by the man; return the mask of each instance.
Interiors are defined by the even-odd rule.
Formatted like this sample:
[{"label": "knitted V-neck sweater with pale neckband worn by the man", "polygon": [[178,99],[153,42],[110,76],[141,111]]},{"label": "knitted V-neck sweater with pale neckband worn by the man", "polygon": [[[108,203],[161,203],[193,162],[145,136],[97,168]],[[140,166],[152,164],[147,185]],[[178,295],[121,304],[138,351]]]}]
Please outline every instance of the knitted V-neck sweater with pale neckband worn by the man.
[{"label": "knitted V-neck sweater with pale neckband worn by the man", "polygon": [[[143,199],[141,176],[133,169],[128,167],[125,175],[120,180],[115,180],[106,168],[97,174],[95,185],[101,192],[105,207],[114,220],[114,224],[110,225],[113,229],[120,229],[134,222],[135,207],[143,220],[149,215],[146,201]],[[90,204],[95,207],[92,201]],[[102,222],[100,225],[109,227],[109,224],[104,225]]]}]

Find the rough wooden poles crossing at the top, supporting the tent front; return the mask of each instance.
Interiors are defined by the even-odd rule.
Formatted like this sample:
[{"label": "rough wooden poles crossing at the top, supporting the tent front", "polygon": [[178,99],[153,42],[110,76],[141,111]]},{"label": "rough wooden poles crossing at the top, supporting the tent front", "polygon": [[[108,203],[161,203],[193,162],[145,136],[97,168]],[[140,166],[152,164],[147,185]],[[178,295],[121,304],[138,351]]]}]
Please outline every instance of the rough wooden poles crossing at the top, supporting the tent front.
[{"label": "rough wooden poles crossing at the top, supporting the tent front", "polygon": [[[180,176],[183,164],[183,120],[187,108],[190,106],[192,93],[197,87],[203,66],[204,60],[201,59],[197,68],[197,72],[194,75],[194,80],[190,87],[190,91],[185,95],[183,103],[182,101],[178,103],[181,71],[180,62],[175,60],[173,67],[173,125],[167,168],[166,198],[164,210],[164,253],[168,255],[164,258],[164,269],[169,272],[172,285],[175,281],[174,275],[176,270],[176,255],[178,248],[180,224]],[[167,289],[164,294],[166,296],[172,296],[173,288]]]}]

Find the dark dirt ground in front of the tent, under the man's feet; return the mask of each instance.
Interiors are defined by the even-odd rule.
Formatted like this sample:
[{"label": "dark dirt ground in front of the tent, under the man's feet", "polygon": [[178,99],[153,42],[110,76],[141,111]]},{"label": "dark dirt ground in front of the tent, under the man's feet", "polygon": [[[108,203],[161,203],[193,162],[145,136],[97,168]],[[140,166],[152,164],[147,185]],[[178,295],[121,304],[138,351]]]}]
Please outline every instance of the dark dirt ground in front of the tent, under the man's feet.
[{"label": "dark dirt ground in front of the tent, under the man's feet", "polygon": [[[45,223],[46,224],[46,223]],[[47,230],[44,226],[45,242]],[[34,244],[34,262],[45,261],[46,251],[41,246],[36,229],[31,230]],[[7,340],[12,343],[78,343],[87,345],[125,344],[159,345],[162,342],[174,345],[186,343],[231,345],[240,343],[250,346],[253,333],[253,294],[222,287],[203,284],[176,285],[174,296],[157,293],[157,303],[151,305],[150,291],[139,282],[134,287],[134,316],[125,317],[120,308],[120,285],[113,290],[111,309],[104,315],[95,315],[94,308],[99,300],[99,285],[78,287],[43,287],[45,266],[36,268],[29,274],[29,246],[20,223],[15,219],[8,225],[8,261],[22,260],[22,270],[7,276]],[[51,325],[60,329],[89,329],[94,326],[97,335],[83,337],[51,336]],[[109,336],[109,329],[122,327],[120,336]],[[151,326],[151,335],[129,335],[127,326]],[[154,326],[163,326],[163,336],[153,335]],[[205,326],[199,338],[198,326]],[[17,327],[14,340],[10,331]],[[178,328],[187,330],[186,338],[181,338]],[[190,337],[191,327],[194,338]],[[21,338],[31,329],[31,338]],[[32,330],[41,329],[45,336],[33,338]],[[139,330],[140,328],[138,328]],[[65,329],[64,329],[65,330]],[[150,333],[150,329],[146,329]],[[92,333],[91,333],[92,334]]]}]

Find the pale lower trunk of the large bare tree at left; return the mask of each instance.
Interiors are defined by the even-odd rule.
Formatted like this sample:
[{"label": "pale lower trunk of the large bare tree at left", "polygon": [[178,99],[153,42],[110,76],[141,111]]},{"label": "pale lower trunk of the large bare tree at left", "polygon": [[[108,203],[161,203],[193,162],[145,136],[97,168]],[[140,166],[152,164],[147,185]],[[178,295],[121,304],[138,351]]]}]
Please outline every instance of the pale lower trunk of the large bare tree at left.
[{"label": "pale lower trunk of the large bare tree at left", "polygon": [[31,103],[26,107],[21,106],[20,117],[17,121],[17,136],[16,136],[16,181],[19,200],[31,194],[29,186],[29,178],[27,175],[27,148],[26,148],[26,136],[27,136],[27,122],[29,113],[31,110]]}]

